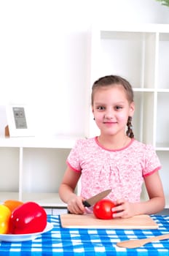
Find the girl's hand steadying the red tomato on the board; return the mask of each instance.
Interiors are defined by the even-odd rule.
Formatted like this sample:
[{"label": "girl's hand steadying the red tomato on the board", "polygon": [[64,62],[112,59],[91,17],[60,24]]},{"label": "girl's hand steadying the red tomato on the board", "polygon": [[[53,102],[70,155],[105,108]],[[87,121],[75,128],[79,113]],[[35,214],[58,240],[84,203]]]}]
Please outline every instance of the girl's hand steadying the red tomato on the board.
[{"label": "girl's hand steadying the red tomato on the board", "polygon": [[134,203],[129,203],[125,199],[119,199],[116,202],[116,206],[112,208],[111,211],[114,218],[129,218],[135,215],[135,207]]}]

